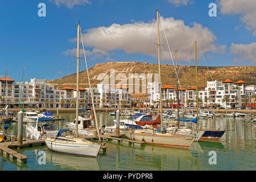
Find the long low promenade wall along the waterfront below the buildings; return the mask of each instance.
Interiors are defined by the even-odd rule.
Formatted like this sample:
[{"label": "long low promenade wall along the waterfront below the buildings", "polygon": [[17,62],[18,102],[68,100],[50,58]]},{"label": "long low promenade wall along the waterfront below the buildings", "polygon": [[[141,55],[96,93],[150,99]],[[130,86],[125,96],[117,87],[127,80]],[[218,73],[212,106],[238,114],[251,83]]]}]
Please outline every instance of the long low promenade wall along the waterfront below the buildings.
[{"label": "long low promenade wall along the waterfront below the buildings", "polygon": [[[57,112],[57,109],[56,108],[24,108],[25,110],[39,110],[39,111],[43,111],[43,110],[49,110],[49,111],[52,111],[52,112]],[[90,109],[90,108],[88,108]],[[113,112],[113,111],[116,111],[118,110],[118,108],[95,108],[96,109],[96,112],[97,113],[103,113],[103,112]],[[138,108],[138,107],[134,107],[134,108],[127,108],[127,110],[143,110],[143,108]],[[149,109],[147,107],[144,108],[144,110],[146,109]],[[119,110],[125,110],[124,108],[121,108]],[[165,110],[172,110],[171,108],[164,108],[163,111]],[[175,110],[175,108],[174,108]],[[182,108],[181,108],[182,110]],[[189,110],[189,109],[185,109],[185,110]],[[190,110],[196,110],[196,109],[190,109]],[[205,111],[213,111],[213,109],[204,109]],[[9,111],[11,112],[18,112],[19,109],[9,109]],[[73,113],[76,111],[76,108],[59,108],[59,112],[60,113]],[[233,112],[237,112],[238,113],[249,113],[249,114],[256,114],[256,109],[214,109],[214,112],[215,113],[233,113]]]}]

